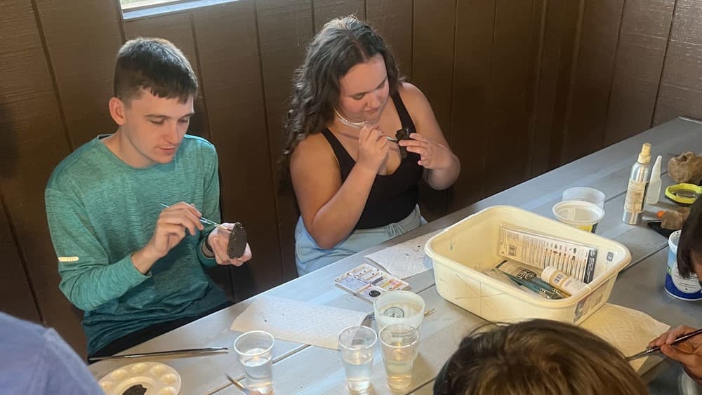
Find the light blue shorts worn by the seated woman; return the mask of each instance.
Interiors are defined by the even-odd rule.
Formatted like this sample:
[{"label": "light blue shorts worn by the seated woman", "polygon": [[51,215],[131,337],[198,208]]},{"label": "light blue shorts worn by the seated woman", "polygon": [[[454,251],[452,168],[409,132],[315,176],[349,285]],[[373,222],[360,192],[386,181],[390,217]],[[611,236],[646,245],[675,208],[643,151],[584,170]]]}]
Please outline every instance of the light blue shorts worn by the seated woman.
[{"label": "light blue shorts worn by the seated woman", "polygon": [[298,274],[303,276],[314,272],[314,270],[354,255],[366,248],[376,246],[383,243],[383,241],[409,232],[426,223],[419,213],[419,206],[416,206],[404,220],[385,225],[384,227],[357,229],[336,246],[326,250],[317,246],[317,243],[305,229],[303,218],[300,217],[298,225],[295,227],[295,262],[298,267]]}]

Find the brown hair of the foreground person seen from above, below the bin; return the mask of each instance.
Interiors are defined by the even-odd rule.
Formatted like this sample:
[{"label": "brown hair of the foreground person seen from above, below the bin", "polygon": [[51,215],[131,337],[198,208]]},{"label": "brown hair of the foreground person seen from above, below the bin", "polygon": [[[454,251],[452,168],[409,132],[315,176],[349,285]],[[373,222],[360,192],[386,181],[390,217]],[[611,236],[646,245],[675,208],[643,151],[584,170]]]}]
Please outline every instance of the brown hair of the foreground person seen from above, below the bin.
[{"label": "brown hair of the foreground person seen from above, below the bin", "polygon": [[437,377],[435,395],[640,395],[618,349],[569,323],[536,319],[473,332]]}]

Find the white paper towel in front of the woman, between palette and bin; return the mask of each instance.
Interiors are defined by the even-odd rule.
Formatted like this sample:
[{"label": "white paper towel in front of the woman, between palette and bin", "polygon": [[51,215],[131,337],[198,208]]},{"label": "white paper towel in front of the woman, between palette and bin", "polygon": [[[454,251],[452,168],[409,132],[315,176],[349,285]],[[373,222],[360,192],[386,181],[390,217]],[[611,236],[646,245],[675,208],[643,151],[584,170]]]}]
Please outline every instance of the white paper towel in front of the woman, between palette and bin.
[{"label": "white paper towel in front of the woman, between palette and bin", "polygon": [[424,253],[424,246],[435,234],[431,232],[414,239],[366,255],[369,260],[383,266],[388,273],[400,279],[426,272],[432,268],[430,258]]}]

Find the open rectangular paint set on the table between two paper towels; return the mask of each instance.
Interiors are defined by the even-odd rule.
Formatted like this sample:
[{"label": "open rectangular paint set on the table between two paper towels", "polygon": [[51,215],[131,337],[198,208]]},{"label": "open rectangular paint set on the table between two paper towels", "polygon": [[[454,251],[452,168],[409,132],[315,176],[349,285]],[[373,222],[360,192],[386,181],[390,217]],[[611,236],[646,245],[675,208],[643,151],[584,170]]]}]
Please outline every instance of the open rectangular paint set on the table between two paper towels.
[{"label": "open rectangular paint set on the table between two paper towels", "polygon": [[409,287],[406,281],[383,272],[377,267],[364,263],[349,272],[338,276],[334,283],[350,293],[373,302],[380,294],[389,290],[403,290]]}]

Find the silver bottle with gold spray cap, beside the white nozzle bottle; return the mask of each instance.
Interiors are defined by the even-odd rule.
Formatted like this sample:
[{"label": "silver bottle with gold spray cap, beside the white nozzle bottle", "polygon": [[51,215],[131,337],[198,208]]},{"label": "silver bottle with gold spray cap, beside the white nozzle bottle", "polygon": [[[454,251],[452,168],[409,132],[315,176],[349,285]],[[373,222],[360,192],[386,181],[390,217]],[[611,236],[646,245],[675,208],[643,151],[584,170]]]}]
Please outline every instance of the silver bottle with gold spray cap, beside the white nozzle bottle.
[{"label": "silver bottle with gold spray cap, beside the white nozzle bottle", "polygon": [[646,189],[649,186],[650,173],[651,145],[644,142],[644,145],[641,147],[639,159],[631,166],[629,185],[626,189],[624,215],[621,217],[621,220],[629,225],[637,225],[641,222],[641,213],[644,210],[644,201],[646,201]]}]

